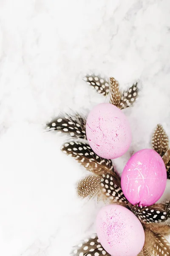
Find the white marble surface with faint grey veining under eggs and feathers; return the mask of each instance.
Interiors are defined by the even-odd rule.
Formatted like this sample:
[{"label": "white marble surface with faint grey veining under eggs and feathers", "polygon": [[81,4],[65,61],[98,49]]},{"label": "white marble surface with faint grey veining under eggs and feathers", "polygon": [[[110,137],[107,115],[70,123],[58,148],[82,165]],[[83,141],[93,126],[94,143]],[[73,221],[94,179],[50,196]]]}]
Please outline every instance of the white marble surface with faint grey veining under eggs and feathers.
[{"label": "white marble surface with faint grey veining under eggs and feathers", "polygon": [[170,136],[170,1],[0,0],[0,255],[68,256],[95,232],[101,204],[74,189],[85,170],[59,151],[64,137],[42,132],[59,110],[105,100],[82,81],[88,70],[141,80],[125,111],[130,150],[149,147],[158,122]]}]

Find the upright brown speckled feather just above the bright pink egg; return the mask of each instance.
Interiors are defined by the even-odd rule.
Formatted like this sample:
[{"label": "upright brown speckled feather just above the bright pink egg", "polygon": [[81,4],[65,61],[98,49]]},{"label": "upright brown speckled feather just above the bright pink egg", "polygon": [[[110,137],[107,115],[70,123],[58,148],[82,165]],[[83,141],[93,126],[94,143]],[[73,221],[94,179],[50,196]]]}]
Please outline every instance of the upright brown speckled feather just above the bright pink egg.
[{"label": "upright brown speckled feather just above the bright pink egg", "polygon": [[158,124],[152,137],[152,147],[162,157],[169,147],[169,140],[162,125]]}]

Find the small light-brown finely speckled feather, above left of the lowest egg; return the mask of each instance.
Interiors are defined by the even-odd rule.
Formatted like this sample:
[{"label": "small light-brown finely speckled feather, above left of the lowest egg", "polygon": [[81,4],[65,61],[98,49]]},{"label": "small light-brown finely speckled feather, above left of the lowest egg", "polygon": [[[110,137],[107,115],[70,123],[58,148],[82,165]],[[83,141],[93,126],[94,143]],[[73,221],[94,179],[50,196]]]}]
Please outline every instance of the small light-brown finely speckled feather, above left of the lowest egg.
[{"label": "small light-brown finely speckled feather, above left of the lowest egg", "polygon": [[101,177],[87,176],[80,180],[77,186],[77,194],[81,198],[92,198],[100,191]]}]

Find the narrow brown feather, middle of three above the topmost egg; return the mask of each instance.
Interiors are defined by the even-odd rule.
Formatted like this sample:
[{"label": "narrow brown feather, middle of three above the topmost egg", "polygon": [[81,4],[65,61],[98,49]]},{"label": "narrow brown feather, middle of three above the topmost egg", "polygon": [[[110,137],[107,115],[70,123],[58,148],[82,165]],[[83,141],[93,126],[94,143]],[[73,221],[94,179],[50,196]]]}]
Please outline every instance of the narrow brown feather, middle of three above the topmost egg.
[{"label": "narrow brown feather, middle of three above the topmost egg", "polygon": [[118,81],[116,81],[113,77],[110,77],[110,91],[111,91],[110,103],[119,108],[121,92],[119,91]]}]

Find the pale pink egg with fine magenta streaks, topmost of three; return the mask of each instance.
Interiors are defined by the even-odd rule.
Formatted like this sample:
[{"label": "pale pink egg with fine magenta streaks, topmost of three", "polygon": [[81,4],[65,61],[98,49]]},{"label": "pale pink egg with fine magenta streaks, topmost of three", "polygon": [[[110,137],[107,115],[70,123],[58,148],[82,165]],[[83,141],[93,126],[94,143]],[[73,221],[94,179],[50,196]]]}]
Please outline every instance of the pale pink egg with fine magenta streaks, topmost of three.
[{"label": "pale pink egg with fine magenta streaks, topmost of three", "polygon": [[125,154],[132,140],[126,116],[110,103],[96,105],[89,113],[86,136],[93,151],[106,159]]}]

